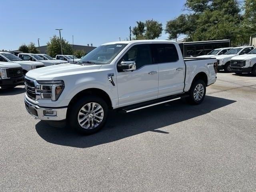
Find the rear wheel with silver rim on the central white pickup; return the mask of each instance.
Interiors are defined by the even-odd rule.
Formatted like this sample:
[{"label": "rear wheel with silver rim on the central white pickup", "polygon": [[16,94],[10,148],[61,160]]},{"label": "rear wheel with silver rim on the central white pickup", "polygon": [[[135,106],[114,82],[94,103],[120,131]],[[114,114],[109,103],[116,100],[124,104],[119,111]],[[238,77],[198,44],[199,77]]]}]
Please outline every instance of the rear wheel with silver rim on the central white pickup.
[{"label": "rear wheel with silver rim on the central white pickup", "polygon": [[202,103],[206,94],[206,84],[203,80],[196,80],[189,91],[188,101],[191,104],[198,105]]}]

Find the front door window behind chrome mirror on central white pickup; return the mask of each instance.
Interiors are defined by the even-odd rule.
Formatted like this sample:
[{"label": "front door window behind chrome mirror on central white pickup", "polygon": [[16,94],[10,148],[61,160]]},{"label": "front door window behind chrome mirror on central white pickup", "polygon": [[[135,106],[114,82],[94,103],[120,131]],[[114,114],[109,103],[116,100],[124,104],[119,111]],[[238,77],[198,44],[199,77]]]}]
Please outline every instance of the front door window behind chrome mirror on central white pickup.
[{"label": "front door window behind chrome mirror on central white pickup", "polygon": [[150,45],[142,44],[133,46],[124,54],[118,64],[122,61],[135,61],[136,69],[152,64]]}]

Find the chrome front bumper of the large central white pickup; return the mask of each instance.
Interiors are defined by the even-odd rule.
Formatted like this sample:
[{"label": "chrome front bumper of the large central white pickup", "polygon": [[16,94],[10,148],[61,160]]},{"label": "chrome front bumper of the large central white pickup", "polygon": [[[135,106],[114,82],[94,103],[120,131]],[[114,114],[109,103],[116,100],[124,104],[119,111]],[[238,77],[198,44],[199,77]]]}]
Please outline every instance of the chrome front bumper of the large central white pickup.
[{"label": "chrome front bumper of the large central white pickup", "polygon": [[[48,107],[40,107],[24,97],[25,107],[26,110],[30,115],[32,115],[34,118],[40,119],[40,120],[48,120],[48,121],[61,121],[66,119],[67,114],[67,107],[64,108],[48,108]],[[44,111],[55,111],[56,116],[47,116],[44,115]]]}]

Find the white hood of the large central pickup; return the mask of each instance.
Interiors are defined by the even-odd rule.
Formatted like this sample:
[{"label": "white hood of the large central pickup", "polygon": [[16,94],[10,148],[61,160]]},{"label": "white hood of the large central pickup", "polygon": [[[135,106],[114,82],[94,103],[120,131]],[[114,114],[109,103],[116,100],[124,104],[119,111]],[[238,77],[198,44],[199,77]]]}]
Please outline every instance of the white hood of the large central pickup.
[{"label": "white hood of the large central pickup", "polygon": [[26,76],[35,80],[62,80],[64,76],[98,71],[102,65],[59,64],[30,70]]}]

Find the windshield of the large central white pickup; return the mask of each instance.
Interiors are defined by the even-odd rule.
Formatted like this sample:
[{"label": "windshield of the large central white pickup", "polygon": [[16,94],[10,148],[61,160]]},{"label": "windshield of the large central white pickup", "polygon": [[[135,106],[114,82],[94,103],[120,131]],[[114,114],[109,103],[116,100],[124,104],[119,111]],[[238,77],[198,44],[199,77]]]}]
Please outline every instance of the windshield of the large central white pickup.
[{"label": "windshield of the large central white pickup", "polygon": [[127,44],[101,45],[84,56],[80,63],[91,61],[99,64],[110,64],[110,62],[124,49]]}]

